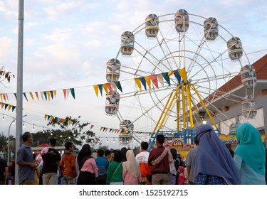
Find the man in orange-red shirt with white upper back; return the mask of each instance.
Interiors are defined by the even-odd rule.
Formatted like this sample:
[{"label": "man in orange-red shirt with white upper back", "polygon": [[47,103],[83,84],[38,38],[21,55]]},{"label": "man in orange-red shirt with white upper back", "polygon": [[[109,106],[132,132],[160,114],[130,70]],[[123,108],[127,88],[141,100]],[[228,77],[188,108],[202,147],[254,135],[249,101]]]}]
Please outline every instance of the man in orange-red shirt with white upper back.
[{"label": "man in orange-red shirt with white upper back", "polygon": [[137,160],[137,163],[139,163],[140,166],[140,172],[142,177],[140,184],[142,185],[145,185],[147,183],[147,175],[151,175],[151,169],[147,163],[148,156],[150,156],[150,152],[148,152],[147,149],[148,149],[147,141],[142,141],[141,151],[139,154],[135,156],[135,159]]}]

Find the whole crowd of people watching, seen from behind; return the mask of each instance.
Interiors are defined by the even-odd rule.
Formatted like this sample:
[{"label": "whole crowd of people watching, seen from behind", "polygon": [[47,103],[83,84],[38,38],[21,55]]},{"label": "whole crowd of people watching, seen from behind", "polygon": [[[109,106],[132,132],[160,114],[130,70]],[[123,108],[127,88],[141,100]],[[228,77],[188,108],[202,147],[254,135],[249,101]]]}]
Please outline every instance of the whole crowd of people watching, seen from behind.
[{"label": "whole crowd of people watching, seen from behind", "polygon": [[[141,151],[134,154],[120,150],[97,151],[93,158],[89,144],[84,144],[77,156],[73,143],[66,142],[66,152],[55,149],[51,139],[41,156],[33,157],[30,132],[22,135],[23,144],[17,152],[19,184],[21,185],[263,185],[266,184],[266,149],[261,135],[251,124],[238,124],[239,141],[234,154],[219,139],[209,124],[195,128],[194,149],[185,161],[176,149],[164,147],[165,137],[157,134],[156,146],[148,151],[148,143],[141,143]],[[11,162],[11,164],[15,162]],[[0,183],[10,174],[7,163],[0,159]],[[13,172],[13,171],[12,171]],[[6,175],[5,175],[6,174]]]}]

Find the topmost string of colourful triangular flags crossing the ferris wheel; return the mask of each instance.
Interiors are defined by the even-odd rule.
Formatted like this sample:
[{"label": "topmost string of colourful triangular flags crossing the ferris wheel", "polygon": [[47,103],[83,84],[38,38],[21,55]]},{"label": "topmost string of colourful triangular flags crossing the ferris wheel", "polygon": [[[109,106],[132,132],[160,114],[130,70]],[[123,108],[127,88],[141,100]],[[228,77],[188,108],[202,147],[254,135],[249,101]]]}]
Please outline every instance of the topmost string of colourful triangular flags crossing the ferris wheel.
[{"label": "topmost string of colourful triangular flags crossing the ferris wheel", "polygon": [[[174,75],[177,78],[179,84],[181,83],[181,79],[184,80],[184,82],[187,82],[187,75],[186,75],[185,68],[182,68],[180,70],[172,70],[169,72],[162,72],[157,75],[136,77],[134,80],[135,80],[135,84],[140,90],[142,90],[142,86],[145,88],[145,90],[147,90],[147,86],[149,89],[151,89],[151,82],[153,83],[153,85],[155,85],[155,87],[159,88],[159,83],[163,87],[164,80],[165,80],[170,86],[171,85],[170,80],[169,80],[170,75]],[[120,84],[120,81],[93,85],[93,88],[95,90],[95,95],[97,97],[99,95],[99,92],[101,96],[103,97],[103,90],[105,90],[106,95],[108,95],[109,92],[110,92],[110,95],[112,95],[113,90],[117,91],[117,89],[120,90],[120,92],[122,92],[122,85]],[[71,94],[73,98],[75,99],[75,88],[74,87],[63,89],[62,91],[63,91],[64,99],[66,99],[69,94]],[[40,91],[40,92],[23,92],[23,97],[26,99],[26,101],[28,101],[28,97],[27,97],[28,95],[30,95],[32,100],[34,99],[40,100],[41,98],[42,100],[50,101],[51,99],[56,98],[57,92],[58,90]],[[13,95],[16,97],[16,93],[13,93]],[[9,101],[8,93],[0,93],[0,99],[2,102]]]}]

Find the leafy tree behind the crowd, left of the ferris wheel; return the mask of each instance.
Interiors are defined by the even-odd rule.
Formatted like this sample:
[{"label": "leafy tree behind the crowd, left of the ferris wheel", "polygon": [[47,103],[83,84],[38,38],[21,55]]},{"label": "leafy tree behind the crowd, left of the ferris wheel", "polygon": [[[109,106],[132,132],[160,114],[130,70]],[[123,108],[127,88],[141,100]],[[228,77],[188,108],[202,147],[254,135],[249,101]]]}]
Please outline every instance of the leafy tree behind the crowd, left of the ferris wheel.
[{"label": "leafy tree behind the crowd, left of the ferris wheel", "polygon": [[95,137],[95,133],[93,131],[85,130],[85,127],[87,127],[90,123],[85,122],[80,124],[79,119],[80,116],[78,119],[72,117],[58,119],[55,117],[49,120],[47,124],[48,126],[51,125],[55,127],[58,125],[61,127],[61,130],[51,131],[53,136],[57,139],[58,144],[63,145],[66,141],[72,141],[75,146],[82,146],[83,142],[86,142],[90,144],[92,148],[94,148],[96,144],[100,144],[100,139]]}]

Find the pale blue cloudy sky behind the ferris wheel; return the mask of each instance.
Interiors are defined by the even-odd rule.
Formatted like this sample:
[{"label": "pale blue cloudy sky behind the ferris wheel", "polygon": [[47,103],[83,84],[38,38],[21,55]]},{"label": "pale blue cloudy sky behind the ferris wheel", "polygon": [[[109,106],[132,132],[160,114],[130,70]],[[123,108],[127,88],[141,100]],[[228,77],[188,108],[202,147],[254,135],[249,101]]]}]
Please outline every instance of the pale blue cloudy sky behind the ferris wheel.
[{"label": "pale blue cloudy sky behind the ferris wheel", "polygon": [[[215,17],[220,26],[241,39],[243,48],[246,49],[246,59],[250,63],[266,55],[265,1],[24,1],[23,92],[28,100],[23,97],[23,115],[27,114],[23,117],[23,131],[34,133],[52,128],[46,125],[48,121],[45,115],[58,118],[80,116],[81,122],[90,122],[88,127],[92,127],[96,136],[100,136],[104,146],[120,147],[118,134],[110,131],[120,129],[120,118],[105,113],[105,92],[103,97],[100,94],[97,97],[93,85],[107,82],[106,63],[119,54],[120,36],[123,32],[135,32],[144,24],[148,14],[174,15],[179,9],[204,18]],[[19,1],[0,1],[0,67],[4,66],[16,77],[18,11]],[[137,39],[140,39],[141,46],[145,45],[145,38]],[[154,53],[157,57],[157,52]],[[126,59],[122,58],[121,61],[127,63]],[[121,70],[126,71],[125,68]],[[135,76],[127,72],[125,74],[121,75],[120,80],[134,85],[132,82]],[[0,93],[6,94],[8,99],[0,99],[0,102],[16,106],[16,77],[10,83],[1,82]],[[126,86],[122,85],[122,90],[124,87]],[[70,88],[75,90],[75,98],[71,92],[64,97],[63,90]],[[40,96],[40,99],[36,98],[35,92],[55,90],[56,97],[53,99],[42,100]],[[33,99],[30,93],[33,93]],[[151,101],[137,104],[128,98],[129,100],[127,97],[120,100],[123,119],[135,121],[142,114],[139,110],[151,107]],[[150,111],[155,113],[157,120],[157,112],[152,109]],[[14,118],[16,110],[12,112],[0,109],[2,134],[7,136]],[[135,131],[152,131],[152,123],[149,118],[137,120],[134,124]],[[101,127],[108,130],[103,131]],[[10,134],[15,135],[15,125],[11,125]],[[142,141],[149,138],[145,134],[137,136]]]}]

